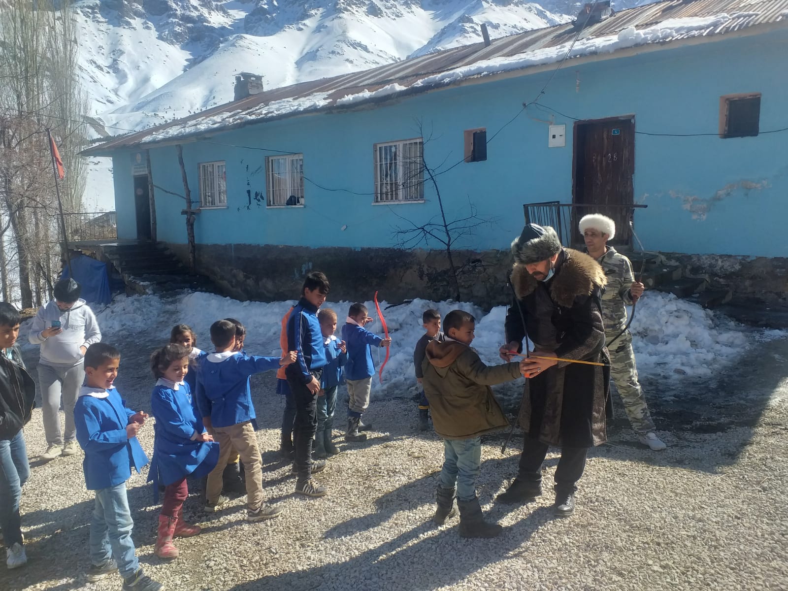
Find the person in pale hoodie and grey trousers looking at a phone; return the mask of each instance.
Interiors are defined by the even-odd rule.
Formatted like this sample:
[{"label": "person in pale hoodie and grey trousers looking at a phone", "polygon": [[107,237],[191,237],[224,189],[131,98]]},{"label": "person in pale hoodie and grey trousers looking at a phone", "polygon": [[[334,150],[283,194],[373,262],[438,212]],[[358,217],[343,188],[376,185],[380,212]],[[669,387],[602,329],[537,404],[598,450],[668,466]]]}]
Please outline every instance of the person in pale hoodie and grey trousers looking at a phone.
[{"label": "person in pale hoodie and grey trousers looking at a phone", "polygon": [[[74,405],[85,379],[85,351],[101,340],[99,323],[93,310],[80,299],[81,291],[80,284],[71,278],[58,281],[54,284],[54,300],[39,308],[30,328],[30,342],[41,345],[39,388],[46,433],[46,452],[41,455],[42,459],[74,455],[79,450]],[[61,396],[65,411],[62,436]]]}]

